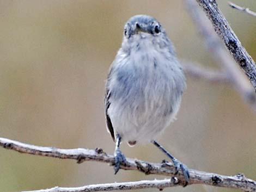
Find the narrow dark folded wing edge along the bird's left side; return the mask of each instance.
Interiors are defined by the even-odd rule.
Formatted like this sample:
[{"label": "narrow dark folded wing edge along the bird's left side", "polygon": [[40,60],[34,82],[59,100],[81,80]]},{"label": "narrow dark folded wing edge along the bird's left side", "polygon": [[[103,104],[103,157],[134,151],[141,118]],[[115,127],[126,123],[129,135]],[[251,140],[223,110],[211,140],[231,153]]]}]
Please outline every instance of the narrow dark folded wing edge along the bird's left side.
[{"label": "narrow dark folded wing edge along the bird's left side", "polygon": [[[109,80],[109,76],[111,74],[111,71],[112,70],[109,71],[107,81]],[[107,124],[108,132],[111,134],[111,137],[112,137],[113,141],[115,141],[114,128],[113,128],[111,119],[108,115],[108,108],[111,105],[111,102],[109,101],[110,97],[111,97],[111,91],[108,89],[108,82],[107,82],[106,83],[105,100],[104,100],[105,101],[105,117],[106,117],[106,124]]]}]

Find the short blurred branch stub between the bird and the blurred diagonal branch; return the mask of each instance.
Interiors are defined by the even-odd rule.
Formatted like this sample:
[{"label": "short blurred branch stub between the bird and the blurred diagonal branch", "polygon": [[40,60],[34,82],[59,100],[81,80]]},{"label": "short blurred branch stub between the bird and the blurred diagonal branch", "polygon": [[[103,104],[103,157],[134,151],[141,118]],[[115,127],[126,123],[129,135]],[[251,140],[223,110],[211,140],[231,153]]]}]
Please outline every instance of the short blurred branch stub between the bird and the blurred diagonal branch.
[{"label": "short blurred branch stub between the bird and the blurred diagonal branch", "polygon": [[210,70],[197,63],[182,61],[185,73],[192,78],[199,78],[211,83],[230,83],[227,73],[222,71]]}]

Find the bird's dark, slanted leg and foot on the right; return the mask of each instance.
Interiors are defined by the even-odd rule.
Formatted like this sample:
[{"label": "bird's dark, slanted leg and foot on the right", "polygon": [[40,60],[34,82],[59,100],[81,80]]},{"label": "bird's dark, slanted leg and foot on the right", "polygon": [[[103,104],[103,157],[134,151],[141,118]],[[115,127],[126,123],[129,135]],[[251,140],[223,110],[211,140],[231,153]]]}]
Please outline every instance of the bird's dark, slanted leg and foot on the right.
[{"label": "bird's dark, slanted leg and foot on the right", "polygon": [[157,141],[153,140],[151,141],[157,148],[159,148],[162,152],[164,152],[173,162],[174,166],[176,167],[176,173],[178,174],[178,171],[181,169],[184,178],[185,178],[185,184],[184,187],[188,184],[188,179],[190,178],[190,172],[188,172],[188,168],[186,165],[182,164],[178,159],[172,156],[168,151],[166,151],[165,148],[163,148]]}]

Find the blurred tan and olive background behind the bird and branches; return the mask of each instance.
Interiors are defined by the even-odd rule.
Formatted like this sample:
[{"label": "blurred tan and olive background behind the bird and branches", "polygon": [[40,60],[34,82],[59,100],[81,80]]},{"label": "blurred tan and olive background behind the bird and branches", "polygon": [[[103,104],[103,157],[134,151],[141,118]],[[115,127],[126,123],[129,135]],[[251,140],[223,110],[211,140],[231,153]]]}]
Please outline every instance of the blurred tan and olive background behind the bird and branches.
[{"label": "blurred tan and olive background behind the bird and branches", "polygon": [[[233,1],[256,11],[255,0]],[[256,20],[218,1],[256,59]],[[180,59],[217,69],[182,1],[0,1],[0,137],[113,153],[103,111],[105,79],[133,15],[159,20]],[[229,85],[187,77],[177,120],[160,143],[191,169],[256,179],[256,115]],[[127,157],[161,162],[151,144],[121,145]],[[0,191],[164,178],[103,163],[31,156],[0,148]],[[100,168],[100,169],[99,169]],[[166,191],[231,191],[192,185]],[[143,190],[140,190],[143,191]],[[145,189],[144,191],[156,191]],[[234,191],[234,190],[232,190]]]}]

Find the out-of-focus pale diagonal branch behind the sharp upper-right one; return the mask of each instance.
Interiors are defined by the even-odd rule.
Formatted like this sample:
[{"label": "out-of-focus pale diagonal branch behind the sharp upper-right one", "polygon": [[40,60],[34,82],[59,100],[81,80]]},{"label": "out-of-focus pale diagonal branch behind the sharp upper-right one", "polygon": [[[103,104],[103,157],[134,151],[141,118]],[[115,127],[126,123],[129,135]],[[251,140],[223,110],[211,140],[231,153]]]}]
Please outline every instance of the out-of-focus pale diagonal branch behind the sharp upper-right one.
[{"label": "out-of-focus pale diagonal branch behind the sharp upper-right one", "polygon": [[222,46],[220,39],[214,33],[214,30],[212,30],[211,24],[205,20],[205,16],[200,12],[196,2],[194,0],[185,0],[185,3],[187,5],[187,10],[203,35],[206,46],[211,52],[212,57],[227,73],[231,85],[234,86],[254,111],[256,111],[256,95],[254,89],[251,87],[239,67],[235,65],[234,60],[227,53],[226,49]]}]

